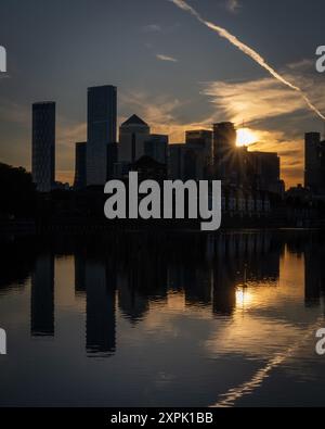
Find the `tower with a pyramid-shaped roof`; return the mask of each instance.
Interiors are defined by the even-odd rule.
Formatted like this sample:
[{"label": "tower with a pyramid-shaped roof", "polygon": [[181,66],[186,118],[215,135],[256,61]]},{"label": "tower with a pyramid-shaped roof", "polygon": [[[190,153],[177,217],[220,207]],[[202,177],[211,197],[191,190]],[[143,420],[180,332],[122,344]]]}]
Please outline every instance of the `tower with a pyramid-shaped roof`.
[{"label": "tower with a pyramid-shaped roof", "polygon": [[119,128],[119,163],[133,164],[144,155],[144,142],[150,140],[151,129],[139,116],[133,115]]}]

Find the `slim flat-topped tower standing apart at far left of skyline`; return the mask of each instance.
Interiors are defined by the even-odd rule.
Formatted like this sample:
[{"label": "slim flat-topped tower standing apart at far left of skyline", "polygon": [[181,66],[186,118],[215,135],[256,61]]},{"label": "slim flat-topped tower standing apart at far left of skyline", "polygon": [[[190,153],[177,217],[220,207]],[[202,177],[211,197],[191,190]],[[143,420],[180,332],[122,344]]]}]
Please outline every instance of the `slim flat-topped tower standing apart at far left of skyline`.
[{"label": "slim flat-topped tower standing apart at far left of skyline", "polygon": [[50,192],[55,181],[55,103],[32,104],[32,181]]}]

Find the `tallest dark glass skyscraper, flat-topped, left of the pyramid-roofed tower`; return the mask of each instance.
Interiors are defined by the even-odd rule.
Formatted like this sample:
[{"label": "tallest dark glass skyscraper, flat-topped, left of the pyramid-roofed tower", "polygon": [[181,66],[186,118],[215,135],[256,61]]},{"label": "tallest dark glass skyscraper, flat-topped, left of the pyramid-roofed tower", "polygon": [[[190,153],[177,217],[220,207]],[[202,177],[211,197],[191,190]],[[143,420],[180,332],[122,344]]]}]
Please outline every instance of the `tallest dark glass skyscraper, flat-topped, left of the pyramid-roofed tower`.
[{"label": "tallest dark glass skyscraper, flat-topped, left of the pyramid-roofed tower", "polygon": [[87,186],[107,179],[107,144],[116,142],[117,88],[88,89]]}]

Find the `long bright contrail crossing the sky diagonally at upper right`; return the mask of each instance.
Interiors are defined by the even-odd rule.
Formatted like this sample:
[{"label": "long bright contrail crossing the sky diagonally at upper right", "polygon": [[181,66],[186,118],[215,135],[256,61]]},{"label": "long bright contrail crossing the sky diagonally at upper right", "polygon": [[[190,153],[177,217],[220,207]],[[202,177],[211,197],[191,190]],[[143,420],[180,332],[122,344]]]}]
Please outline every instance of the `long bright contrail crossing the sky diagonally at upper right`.
[{"label": "long bright contrail crossing the sky diagonally at upper right", "polygon": [[250,56],[261,67],[266,70],[273,77],[275,77],[275,79],[277,79],[282,84],[286,85],[287,87],[291,88],[292,90],[299,92],[301,94],[301,97],[303,98],[303,100],[306,101],[307,105],[314,113],[316,113],[323,121],[325,121],[325,115],[323,115],[318,111],[318,109],[310,101],[310,99],[302,91],[302,89],[297,87],[296,85],[291,84],[285,77],[283,77],[280,73],[277,73],[273,67],[271,67],[271,65],[269,65],[266,63],[266,61],[257,51],[255,51],[247,45],[243,43],[236,36],[229,33],[225,28],[219,27],[218,25],[210,23],[209,21],[205,21],[200,16],[200,14],[194,8],[192,8],[190,4],[187,4],[184,0],[170,0],[170,1],[173,2],[178,8],[182,9],[183,11],[191,13],[202,24],[204,24],[208,28],[212,29],[213,31],[218,33],[220,37],[223,37],[224,39],[229,40],[233,46],[238,48],[242,52],[244,52],[246,55]]}]

